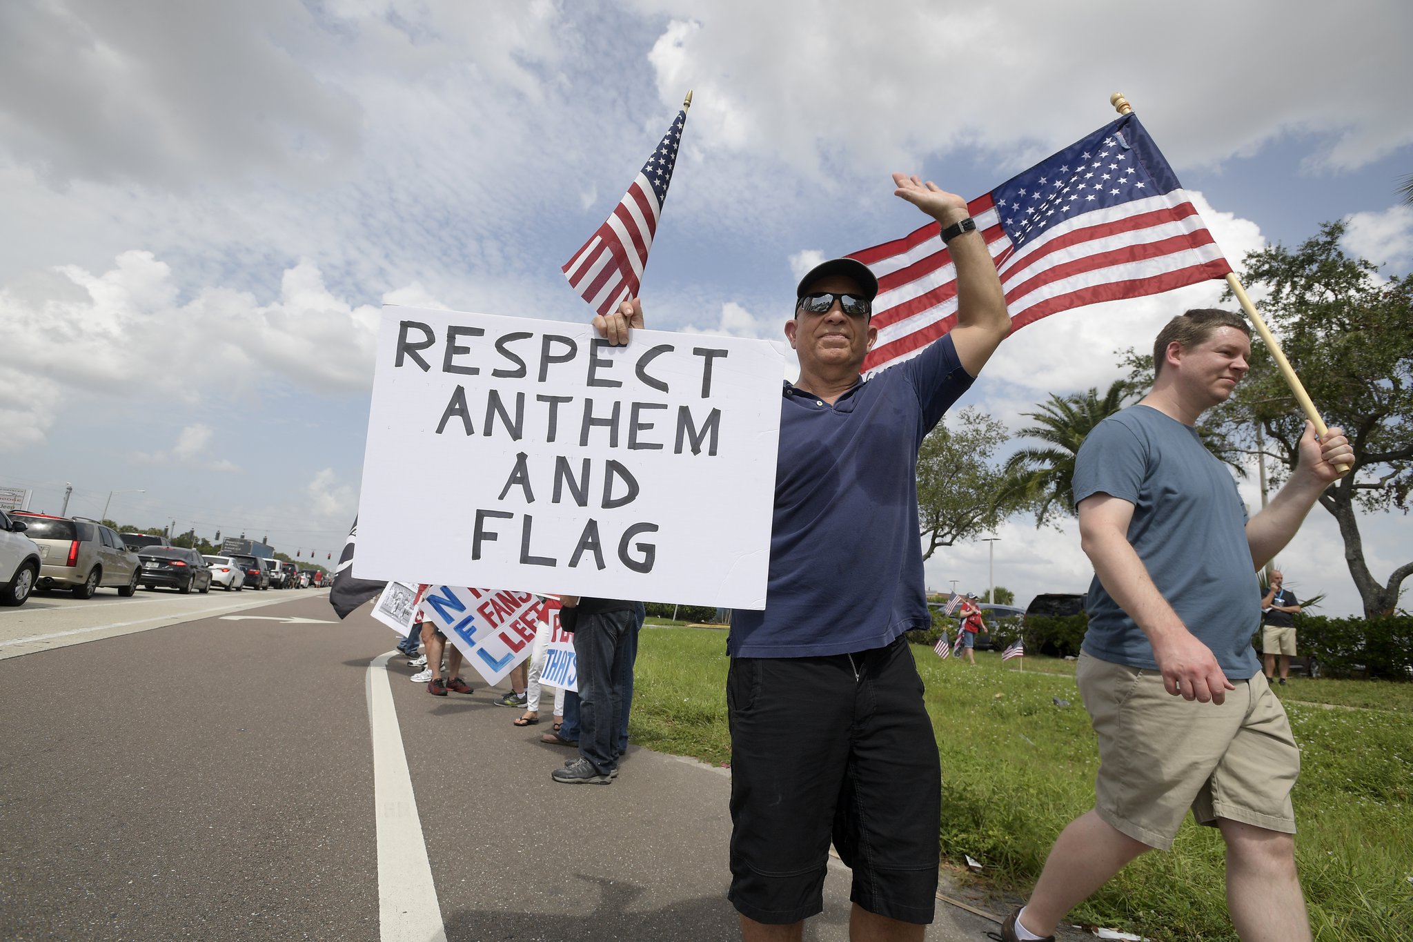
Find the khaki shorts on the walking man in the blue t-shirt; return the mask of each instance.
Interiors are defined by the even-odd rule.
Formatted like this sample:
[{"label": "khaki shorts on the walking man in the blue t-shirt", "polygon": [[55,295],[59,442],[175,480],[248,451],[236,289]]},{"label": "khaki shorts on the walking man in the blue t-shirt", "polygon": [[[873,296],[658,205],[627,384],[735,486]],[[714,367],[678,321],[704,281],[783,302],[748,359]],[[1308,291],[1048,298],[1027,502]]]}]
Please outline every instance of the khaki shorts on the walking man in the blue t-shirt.
[{"label": "khaki shorts on the walking man in the blue t-shirt", "polygon": [[1226,702],[1173,696],[1163,675],[1080,654],[1084,708],[1099,737],[1094,808],[1135,840],[1167,850],[1187,809],[1296,833],[1290,789],[1300,750],[1280,699],[1258,671]]}]

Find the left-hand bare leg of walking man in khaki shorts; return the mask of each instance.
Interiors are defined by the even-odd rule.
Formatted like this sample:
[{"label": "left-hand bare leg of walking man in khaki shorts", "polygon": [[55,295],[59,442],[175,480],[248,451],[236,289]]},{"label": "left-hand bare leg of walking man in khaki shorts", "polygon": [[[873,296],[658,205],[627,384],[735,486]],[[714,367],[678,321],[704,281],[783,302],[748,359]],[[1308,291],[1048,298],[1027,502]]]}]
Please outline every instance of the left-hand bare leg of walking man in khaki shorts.
[{"label": "left-hand bare leg of walking man in khaki shorts", "polygon": [[1036,935],[1054,935],[1064,914],[1080,905],[1130,860],[1152,850],[1088,811],[1060,832],[1046,869],[1026,904],[1024,925]]}]

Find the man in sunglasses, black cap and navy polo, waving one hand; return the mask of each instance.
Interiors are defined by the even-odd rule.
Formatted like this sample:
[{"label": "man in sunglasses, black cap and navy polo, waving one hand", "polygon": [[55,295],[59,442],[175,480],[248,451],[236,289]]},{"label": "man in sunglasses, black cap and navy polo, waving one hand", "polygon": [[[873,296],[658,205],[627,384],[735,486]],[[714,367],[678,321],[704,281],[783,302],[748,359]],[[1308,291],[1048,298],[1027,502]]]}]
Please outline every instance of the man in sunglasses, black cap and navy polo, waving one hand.
[{"label": "man in sunglasses, black cap and navy polo, waving one hand", "polygon": [[[822,911],[831,840],[853,870],[852,938],[921,939],[933,921],[941,774],[903,638],[931,624],[917,451],[1010,318],[966,202],[917,177],[893,182],[941,229],[957,323],[865,381],[877,278],[834,258],[796,288],[784,333],[800,378],[781,390],[766,609],[736,610],[728,643],[728,895],[747,942],[798,939]],[[642,306],[623,302],[593,323],[626,343]]]}]

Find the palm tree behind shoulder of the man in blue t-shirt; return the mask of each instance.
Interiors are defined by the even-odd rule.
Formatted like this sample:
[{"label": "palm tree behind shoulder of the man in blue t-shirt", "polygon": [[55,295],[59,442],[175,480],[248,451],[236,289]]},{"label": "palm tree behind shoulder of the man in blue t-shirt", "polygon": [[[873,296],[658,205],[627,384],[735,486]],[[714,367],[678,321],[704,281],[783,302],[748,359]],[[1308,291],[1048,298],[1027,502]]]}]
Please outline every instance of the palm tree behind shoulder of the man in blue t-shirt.
[{"label": "palm tree behind shoulder of the man in blue t-shirt", "polygon": [[1036,425],[1020,429],[1020,436],[1034,438],[1044,445],[1023,448],[1006,462],[1006,483],[1002,496],[1019,497],[1036,511],[1036,527],[1054,517],[1074,515],[1074,459],[1085,436],[1095,425],[1123,408],[1137,393],[1135,383],[1115,380],[1102,397],[1091,387],[1087,393],[1070,395],[1050,394],[1034,412],[1022,412],[1036,419]]}]

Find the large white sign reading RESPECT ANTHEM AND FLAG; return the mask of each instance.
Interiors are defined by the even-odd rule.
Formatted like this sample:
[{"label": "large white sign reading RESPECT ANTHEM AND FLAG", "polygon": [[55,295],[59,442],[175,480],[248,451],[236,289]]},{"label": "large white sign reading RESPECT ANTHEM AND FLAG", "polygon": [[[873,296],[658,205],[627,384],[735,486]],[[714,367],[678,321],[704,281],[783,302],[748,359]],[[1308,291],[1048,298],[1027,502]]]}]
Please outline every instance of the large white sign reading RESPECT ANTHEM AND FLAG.
[{"label": "large white sign reading RESPECT ANTHEM AND FLAG", "polygon": [[353,571],[762,609],[781,376],[764,340],[387,306]]}]

